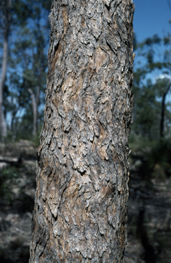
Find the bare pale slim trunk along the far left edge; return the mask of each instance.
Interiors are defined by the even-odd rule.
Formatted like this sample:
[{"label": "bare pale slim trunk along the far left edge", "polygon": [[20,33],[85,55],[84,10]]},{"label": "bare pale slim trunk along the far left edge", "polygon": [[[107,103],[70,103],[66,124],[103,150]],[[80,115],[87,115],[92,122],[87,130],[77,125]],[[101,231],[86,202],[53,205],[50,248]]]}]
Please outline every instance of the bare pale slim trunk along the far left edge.
[{"label": "bare pale slim trunk along the far left edge", "polygon": [[3,113],[3,86],[5,83],[7,62],[8,62],[8,35],[10,30],[10,20],[11,20],[11,5],[12,1],[8,0],[5,10],[3,12],[3,58],[2,58],[2,68],[1,68],[1,79],[0,79],[0,134],[1,142],[3,138],[7,135],[7,127],[5,123],[5,116]]}]

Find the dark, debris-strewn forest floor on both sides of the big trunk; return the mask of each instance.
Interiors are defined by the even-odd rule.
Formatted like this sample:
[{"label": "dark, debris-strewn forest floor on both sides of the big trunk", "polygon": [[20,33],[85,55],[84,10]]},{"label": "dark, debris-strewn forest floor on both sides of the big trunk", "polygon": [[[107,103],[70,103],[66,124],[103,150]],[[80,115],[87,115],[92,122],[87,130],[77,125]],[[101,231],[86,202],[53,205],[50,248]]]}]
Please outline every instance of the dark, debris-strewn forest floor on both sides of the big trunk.
[{"label": "dark, debris-strewn forest floor on both sides of the big trunk", "polygon": [[[131,158],[125,263],[171,262],[171,177],[142,176]],[[36,148],[28,140],[0,145],[0,262],[27,263],[36,188]]]}]

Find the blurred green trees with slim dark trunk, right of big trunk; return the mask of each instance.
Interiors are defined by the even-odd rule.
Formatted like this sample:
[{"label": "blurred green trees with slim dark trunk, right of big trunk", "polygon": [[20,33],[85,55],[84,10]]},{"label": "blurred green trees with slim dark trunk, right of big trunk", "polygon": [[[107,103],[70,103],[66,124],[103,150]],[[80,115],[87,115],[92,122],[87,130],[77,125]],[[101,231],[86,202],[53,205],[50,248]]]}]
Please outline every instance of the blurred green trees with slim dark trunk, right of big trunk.
[{"label": "blurred green trees with slim dark trunk, right of big trunk", "polygon": [[135,43],[133,136],[157,140],[170,136],[170,58],[171,36],[154,35]]}]

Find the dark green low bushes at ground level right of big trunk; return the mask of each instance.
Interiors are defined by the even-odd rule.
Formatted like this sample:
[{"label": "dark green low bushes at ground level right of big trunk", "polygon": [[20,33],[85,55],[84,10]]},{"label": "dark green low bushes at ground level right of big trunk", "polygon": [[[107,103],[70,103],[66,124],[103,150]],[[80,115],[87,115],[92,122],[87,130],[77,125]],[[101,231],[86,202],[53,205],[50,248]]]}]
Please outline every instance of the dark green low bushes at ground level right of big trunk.
[{"label": "dark green low bushes at ground level right of big trunk", "polygon": [[[139,175],[150,183],[150,179],[171,178],[171,138],[148,140],[130,134],[129,147],[133,155],[139,156]],[[135,159],[137,160],[137,159]],[[130,164],[133,164],[130,154]]]}]

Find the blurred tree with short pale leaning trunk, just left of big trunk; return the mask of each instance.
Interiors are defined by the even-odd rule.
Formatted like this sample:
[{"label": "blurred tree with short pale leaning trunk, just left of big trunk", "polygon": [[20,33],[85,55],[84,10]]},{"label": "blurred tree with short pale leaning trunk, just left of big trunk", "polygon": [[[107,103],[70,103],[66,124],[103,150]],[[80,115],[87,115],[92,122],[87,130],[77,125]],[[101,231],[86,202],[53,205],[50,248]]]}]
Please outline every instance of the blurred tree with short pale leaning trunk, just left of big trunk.
[{"label": "blurred tree with short pale leaning trunk, just left of big trunk", "polygon": [[[19,52],[25,54],[25,62],[23,65],[25,71],[23,71],[23,79],[26,81],[25,89],[30,93],[32,98],[33,136],[36,136],[38,130],[38,106],[41,102],[41,93],[45,91],[46,83],[47,43],[45,39],[47,38],[46,36],[49,35],[49,23],[46,23],[47,21],[45,18],[43,21],[42,18],[43,11],[45,13],[43,3],[44,2],[41,1],[33,7],[34,13],[36,13],[33,17],[34,26],[32,26],[33,28],[28,28],[29,25],[27,25],[27,30],[25,30],[25,35],[27,36],[21,36],[23,40],[27,40],[27,45],[21,47],[21,42],[18,42],[18,46],[21,47],[20,50],[18,47]],[[28,34],[27,31],[29,31],[30,34]],[[31,41],[30,36],[32,36]]]}]

